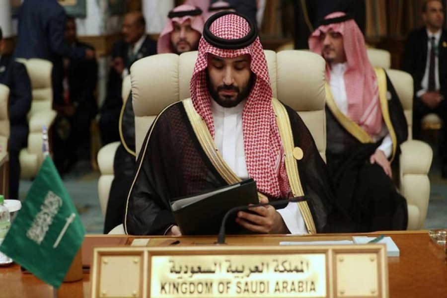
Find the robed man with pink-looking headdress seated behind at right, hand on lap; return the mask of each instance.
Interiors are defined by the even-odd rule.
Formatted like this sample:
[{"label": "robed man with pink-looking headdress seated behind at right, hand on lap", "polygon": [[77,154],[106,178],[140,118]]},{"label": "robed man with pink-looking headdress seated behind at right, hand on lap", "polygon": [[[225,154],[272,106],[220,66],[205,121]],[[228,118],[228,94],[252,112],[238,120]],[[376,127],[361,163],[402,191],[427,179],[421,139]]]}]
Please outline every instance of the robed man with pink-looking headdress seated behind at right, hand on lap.
[{"label": "robed man with pink-looking headdress seated behind at right, hand on lap", "polygon": [[326,161],[338,202],[359,232],[406,229],[391,162],[408,129],[391,81],[373,69],[362,31],[344,12],[320,22],[309,48],[326,60]]}]

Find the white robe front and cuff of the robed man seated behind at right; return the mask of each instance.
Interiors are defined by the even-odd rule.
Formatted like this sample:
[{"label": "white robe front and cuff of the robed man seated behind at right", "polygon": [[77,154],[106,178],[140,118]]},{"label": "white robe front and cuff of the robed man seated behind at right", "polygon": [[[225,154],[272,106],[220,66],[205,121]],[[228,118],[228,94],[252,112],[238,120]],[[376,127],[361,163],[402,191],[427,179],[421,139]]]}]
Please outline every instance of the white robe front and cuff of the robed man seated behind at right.
[{"label": "white robe front and cuff of the robed man seated behind at right", "polygon": [[[329,82],[334,101],[337,104],[339,110],[345,115],[348,114],[348,97],[346,95],[344,78],[346,68],[346,63],[332,64],[331,78]],[[383,137],[385,138],[383,139],[382,144],[378,147],[378,149],[382,150],[383,153],[385,153],[385,156],[389,158],[392,153],[393,142],[391,140],[391,136],[389,135],[388,129],[386,128],[386,125],[382,120],[382,130],[379,135],[373,138],[373,141],[376,142]]]}]

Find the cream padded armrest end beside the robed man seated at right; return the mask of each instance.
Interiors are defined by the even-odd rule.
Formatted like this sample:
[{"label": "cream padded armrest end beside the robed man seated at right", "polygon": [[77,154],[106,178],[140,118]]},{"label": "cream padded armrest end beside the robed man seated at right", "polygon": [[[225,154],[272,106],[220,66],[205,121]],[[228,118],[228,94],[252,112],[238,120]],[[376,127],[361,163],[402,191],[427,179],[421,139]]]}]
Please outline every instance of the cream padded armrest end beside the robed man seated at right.
[{"label": "cream padded armrest end beside the robed man seated at right", "polygon": [[432,148],[422,141],[408,140],[400,146],[402,174],[428,174],[433,159]]}]

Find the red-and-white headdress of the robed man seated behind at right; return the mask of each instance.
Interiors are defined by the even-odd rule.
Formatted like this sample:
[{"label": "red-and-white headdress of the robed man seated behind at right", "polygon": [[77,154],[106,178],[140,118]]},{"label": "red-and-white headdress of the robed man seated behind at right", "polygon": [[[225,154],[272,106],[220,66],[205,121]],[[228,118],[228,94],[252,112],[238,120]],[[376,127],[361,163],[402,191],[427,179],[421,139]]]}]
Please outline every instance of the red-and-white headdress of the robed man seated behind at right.
[{"label": "red-and-white headdress of the robed man seated behind at right", "polygon": [[[343,12],[333,12],[325,17],[331,19],[344,16]],[[348,98],[348,117],[362,127],[371,137],[377,136],[382,128],[382,112],[378,98],[377,78],[368,60],[365,39],[356,22],[351,19],[341,23],[322,25],[309,37],[309,48],[322,55],[323,42],[320,34],[332,29],[343,36],[347,68],[344,75]],[[330,80],[329,66],[326,77]]]}]

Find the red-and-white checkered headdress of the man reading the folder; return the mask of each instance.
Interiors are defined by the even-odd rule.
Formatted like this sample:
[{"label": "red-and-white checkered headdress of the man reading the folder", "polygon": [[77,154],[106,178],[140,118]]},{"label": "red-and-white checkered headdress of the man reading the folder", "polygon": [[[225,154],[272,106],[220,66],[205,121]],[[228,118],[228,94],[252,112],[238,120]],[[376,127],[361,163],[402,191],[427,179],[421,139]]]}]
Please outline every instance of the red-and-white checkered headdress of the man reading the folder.
[{"label": "red-and-white checkered headdress of the man reading the folder", "polygon": [[[239,39],[248,34],[250,26],[243,17],[226,14],[211,24],[210,31],[220,38]],[[256,80],[242,111],[248,174],[256,181],[260,192],[271,197],[287,198],[290,186],[284,163],[284,150],[272,107],[272,88],[267,61],[259,37],[251,45],[237,50],[219,49],[209,44],[203,37],[200,39],[199,53],[191,78],[191,99],[194,108],[205,119],[214,138],[211,111],[213,99],[206,82],[209,53],[223,58],[250,55],[250,69],[256,75]]]}]

